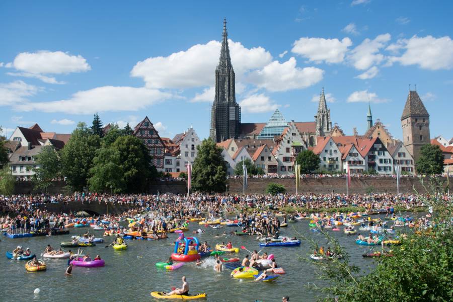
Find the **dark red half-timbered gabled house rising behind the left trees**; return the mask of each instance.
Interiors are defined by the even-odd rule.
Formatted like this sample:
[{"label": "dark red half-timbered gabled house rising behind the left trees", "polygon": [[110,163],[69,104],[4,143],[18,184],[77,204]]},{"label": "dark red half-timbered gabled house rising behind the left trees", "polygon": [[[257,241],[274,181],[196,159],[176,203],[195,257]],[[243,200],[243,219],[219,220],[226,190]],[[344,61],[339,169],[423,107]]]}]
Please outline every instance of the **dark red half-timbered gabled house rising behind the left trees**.
[{"label": "dark red half-timbered gabled house rising behind the left trees", "polygon": [[143,141],[158,171],[164,171],[165,144],[147,116],[135,126],[133,135]]}]

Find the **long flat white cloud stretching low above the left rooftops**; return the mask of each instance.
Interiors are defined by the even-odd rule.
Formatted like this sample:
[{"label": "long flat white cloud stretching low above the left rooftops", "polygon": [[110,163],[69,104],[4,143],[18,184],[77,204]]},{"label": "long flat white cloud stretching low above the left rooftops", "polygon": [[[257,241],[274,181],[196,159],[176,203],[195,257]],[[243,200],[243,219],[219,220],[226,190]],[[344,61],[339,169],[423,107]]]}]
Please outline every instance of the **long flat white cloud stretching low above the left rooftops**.
[{"label": "long flat white cloud stretching low above the left rooftops", "polygon": [[103,86],[74,93],[67,100],[17,104],[19,111],[92,114],[106,111],[138,111],[171,97],[156,89],[125,86]]}]

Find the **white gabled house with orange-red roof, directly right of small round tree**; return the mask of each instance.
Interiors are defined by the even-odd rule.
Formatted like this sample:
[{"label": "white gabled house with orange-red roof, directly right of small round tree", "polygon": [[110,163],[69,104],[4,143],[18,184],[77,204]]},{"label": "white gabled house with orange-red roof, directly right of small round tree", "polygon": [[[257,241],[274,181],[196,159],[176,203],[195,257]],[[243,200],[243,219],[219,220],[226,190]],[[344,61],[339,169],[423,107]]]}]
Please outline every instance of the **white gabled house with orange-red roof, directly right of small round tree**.
[{"label": "white gabled house with orange-red roof, directly right of small round tree", "polygon": [[332,137],[317,137],[318,144],[313,149],[313,153],[319,155],[321,170],[340,172],[343,170],[341,162],[341,152]]}]

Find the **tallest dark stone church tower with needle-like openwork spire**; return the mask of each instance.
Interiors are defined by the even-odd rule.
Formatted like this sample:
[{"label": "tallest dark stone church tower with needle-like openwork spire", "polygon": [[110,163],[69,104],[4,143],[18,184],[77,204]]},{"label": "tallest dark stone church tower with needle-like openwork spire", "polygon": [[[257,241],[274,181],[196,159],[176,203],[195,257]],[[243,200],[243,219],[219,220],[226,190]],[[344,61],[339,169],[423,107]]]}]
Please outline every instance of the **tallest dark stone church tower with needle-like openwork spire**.
[{"label": "tallest dark stone church tower with needle-like openwork spire", "polygon": [[228,48],[226,19],[223,19],[222,47],[215,68],[215,99],[211,108],[209,137],[215,142],[237,138],[240,125],[241,107],[236,103],[235,71]]}]

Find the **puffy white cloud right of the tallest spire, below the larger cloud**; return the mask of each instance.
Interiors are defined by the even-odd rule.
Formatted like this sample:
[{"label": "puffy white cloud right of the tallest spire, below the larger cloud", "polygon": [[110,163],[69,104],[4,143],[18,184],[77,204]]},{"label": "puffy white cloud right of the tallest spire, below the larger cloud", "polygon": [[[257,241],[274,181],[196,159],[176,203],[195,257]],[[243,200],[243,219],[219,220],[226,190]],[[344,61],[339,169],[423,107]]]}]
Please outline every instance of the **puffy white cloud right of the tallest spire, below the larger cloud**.
[{"label": "puffy white cloud right of the tallest spire, below the larger cloud", "polygon": [[268,91],[287,91],[314,85],[323,79],[323,73],[324,70],[316,67],[296,67],[296,59],[291,57],[286,62],[273,61],[251,72],[247,80]]}]

